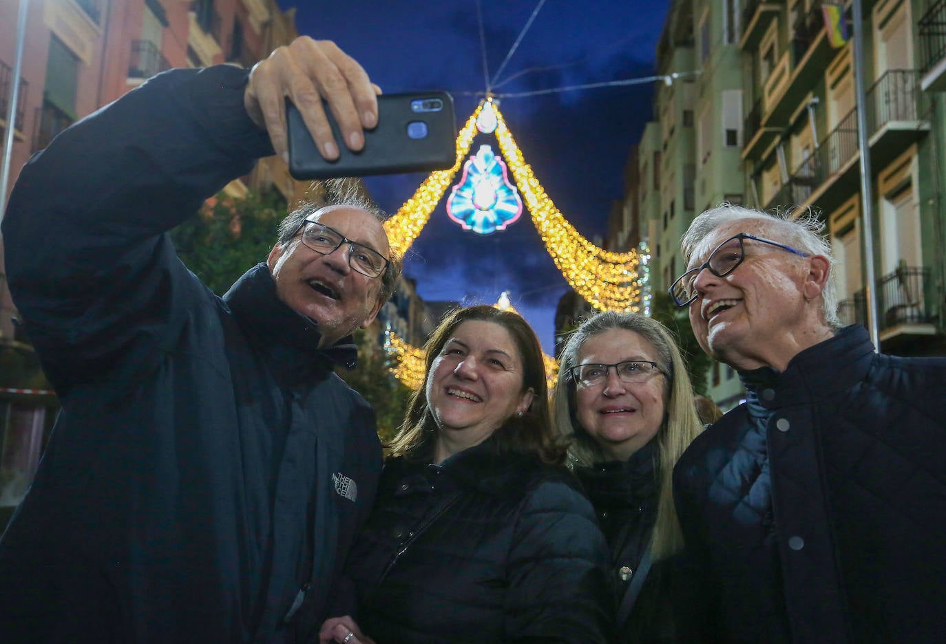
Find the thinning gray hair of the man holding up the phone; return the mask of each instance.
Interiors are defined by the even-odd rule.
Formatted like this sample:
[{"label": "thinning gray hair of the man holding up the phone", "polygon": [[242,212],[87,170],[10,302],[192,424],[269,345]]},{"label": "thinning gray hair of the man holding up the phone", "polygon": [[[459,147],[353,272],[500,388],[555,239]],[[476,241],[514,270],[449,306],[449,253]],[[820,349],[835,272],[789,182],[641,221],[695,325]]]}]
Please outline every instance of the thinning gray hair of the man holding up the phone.
[{"label": "thinning gray hair of the man holding up the phone", "polygon": [[[329,179],[316,186],[315,192],[321,193],[321,198],[308,201],[293,210],[279,223],[279,236],[276,246],[286,247],[302,228],[303,222],[326,206],[348,206],[363,210],[383,223],[388,219],[387,213],[381,210],[377,203],[364,192],[364,188],[357,180]],[[401,276],[402,261],[400,257],[388,257],[388,268],[381,275],[381,292],[378,301],[383,305],[397,288],[397,281]]]}]

